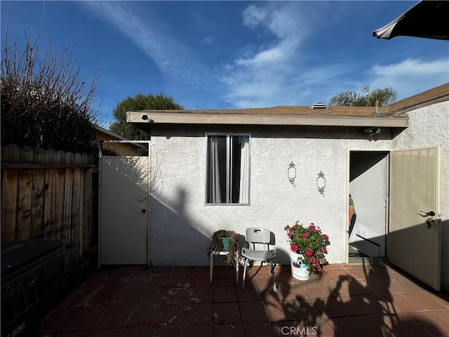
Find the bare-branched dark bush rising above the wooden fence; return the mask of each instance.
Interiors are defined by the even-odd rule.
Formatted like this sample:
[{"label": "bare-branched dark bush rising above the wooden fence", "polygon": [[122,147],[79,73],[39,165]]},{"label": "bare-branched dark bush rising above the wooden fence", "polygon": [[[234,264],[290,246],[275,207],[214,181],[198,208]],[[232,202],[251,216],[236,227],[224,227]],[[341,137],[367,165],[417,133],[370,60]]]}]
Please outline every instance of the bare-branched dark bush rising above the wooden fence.
[{"label": "bare-branched dark bush rising above the wooden fence", "polygon": [[88,85],[81,62],[72,51],[43,55],[25,34],[25,47],[10,44],[6,34],[1,53],[1,143],[19,147],[96,153],[96,78]]}]

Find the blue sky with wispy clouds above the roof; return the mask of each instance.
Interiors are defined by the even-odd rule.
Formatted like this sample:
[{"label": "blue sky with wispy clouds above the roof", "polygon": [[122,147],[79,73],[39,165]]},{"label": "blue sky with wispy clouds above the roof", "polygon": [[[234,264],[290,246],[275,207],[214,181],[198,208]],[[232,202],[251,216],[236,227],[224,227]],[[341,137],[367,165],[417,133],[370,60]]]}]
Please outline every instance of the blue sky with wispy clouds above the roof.
[{"label": "blue sky with wispy clouds above the roof", "polygon": [[101,123],[126,96],[185,109],[328,103],[363,86],[398,100],[449,81],[449,42],[372,37],[417,1],[1,1],[1,39],[71,48],[96,73]]}]

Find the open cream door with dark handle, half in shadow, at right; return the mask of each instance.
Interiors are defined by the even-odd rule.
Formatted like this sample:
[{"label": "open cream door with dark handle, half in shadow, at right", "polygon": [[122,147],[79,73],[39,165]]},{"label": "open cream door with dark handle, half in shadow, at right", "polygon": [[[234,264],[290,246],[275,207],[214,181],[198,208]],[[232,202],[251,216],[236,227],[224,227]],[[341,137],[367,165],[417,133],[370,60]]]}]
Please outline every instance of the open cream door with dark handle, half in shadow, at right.
[{"label": "open cream door with dark handle, half in shadow, at right", "polygon": [[391,152],[388,258],[437,291],[441,277],[440,189],[439,147]]}]

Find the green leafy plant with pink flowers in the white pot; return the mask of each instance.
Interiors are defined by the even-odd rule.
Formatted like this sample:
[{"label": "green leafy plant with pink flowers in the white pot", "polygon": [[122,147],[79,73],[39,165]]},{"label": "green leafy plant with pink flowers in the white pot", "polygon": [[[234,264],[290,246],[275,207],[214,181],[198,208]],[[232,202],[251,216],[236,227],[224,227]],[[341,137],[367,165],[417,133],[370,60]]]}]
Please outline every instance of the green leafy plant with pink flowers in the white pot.
[{"label": "green leafy plant with pink flowers in the white pot", "polygon": [[304,263],[310,272],[318,274],[319,269],[328,264],[325,256],[328,253],[327,246],[330,244],[328,235],[323,234],[320,227],[314,223],[304,227],[299,221],[293,226],[286,225],[284,230],[287,231],[290,249],[302,255],[297,267],[300,263]]}]

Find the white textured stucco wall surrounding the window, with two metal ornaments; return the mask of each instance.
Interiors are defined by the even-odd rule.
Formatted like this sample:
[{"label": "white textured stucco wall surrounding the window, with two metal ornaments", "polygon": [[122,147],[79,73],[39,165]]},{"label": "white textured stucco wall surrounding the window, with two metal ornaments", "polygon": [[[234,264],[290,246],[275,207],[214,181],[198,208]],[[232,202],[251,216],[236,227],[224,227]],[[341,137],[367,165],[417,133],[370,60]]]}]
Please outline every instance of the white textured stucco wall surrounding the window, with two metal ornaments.
[{"label": "white textured stucco wall surrounding the window, with two metal ornaments", "polygon": [[[205,204],[205,133],[250,133],[250,206]],[[266,227],[276,236],[279,263],[288,263],[286,225],[320,226],[330,237],[328,260],[347,256],[348,149],[390,150],[391,135],[361,128],[157,126],[152,128],[154,265],[208,265],[213,232]],[[297,170],[289,183],[288,164]],[[316,187],[322,171],[324,196]]]}]

